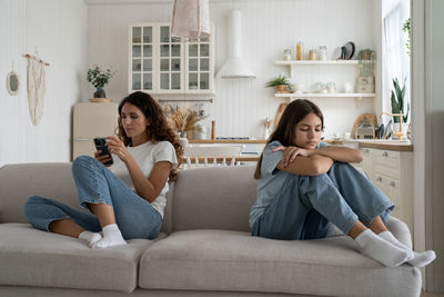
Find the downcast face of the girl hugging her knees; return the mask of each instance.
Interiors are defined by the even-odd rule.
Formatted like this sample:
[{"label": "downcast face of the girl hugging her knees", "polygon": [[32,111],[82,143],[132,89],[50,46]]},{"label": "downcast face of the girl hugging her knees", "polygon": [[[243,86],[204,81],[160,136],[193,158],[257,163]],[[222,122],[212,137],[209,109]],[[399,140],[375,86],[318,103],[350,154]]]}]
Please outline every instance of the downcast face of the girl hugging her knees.
[{"label": "downcast face of the girl hugging her knees", "polygon": [[311,112],[297,122],[294,130],[295,146],[304,149],[315,149],[321,141],[322,121]]}]

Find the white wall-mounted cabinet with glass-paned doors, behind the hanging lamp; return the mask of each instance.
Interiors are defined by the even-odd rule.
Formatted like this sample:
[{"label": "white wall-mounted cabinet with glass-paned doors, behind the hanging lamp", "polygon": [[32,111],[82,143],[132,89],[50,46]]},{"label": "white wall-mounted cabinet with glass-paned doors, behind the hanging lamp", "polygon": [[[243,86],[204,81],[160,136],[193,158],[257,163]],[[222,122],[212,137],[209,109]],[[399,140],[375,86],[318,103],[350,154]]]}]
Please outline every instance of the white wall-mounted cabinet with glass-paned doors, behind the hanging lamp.
[{"label": "white wall-mounted cabinet with glass-paned doors, behind the hanging lamp", "polygon": [[170,23],[129,27],[129,92],[213,95],[213,39],[182,41]]}]

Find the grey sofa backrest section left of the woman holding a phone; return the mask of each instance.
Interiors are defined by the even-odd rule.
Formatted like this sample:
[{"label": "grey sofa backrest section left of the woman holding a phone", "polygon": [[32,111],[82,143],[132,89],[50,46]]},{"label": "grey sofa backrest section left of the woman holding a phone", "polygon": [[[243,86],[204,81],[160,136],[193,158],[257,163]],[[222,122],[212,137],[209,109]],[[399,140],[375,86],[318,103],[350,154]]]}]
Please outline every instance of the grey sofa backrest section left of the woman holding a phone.
[{"label": "grey sofa backrest section left of the woman holding a phone", "polygon": [[16,164],[0,168],[0,222],[27,222],[23,205],[42,196],[77,207],[71,164]]}]

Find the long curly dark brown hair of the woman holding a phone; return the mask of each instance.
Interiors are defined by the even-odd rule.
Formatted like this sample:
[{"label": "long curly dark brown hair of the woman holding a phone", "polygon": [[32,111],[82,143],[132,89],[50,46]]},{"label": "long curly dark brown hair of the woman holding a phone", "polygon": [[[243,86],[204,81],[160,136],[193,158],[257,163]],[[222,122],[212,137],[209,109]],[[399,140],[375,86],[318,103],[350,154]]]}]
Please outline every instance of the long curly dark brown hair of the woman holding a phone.
[{"label": "long curly dark brown hair of the woman holding a phone", "polygon": [[[162,108],[151,95],[137,91],[130,96],[123,98],[119,105],[119,127],[117,135],[120,140],[123,141],[125,146],[131,143],[131,138],[129,138],[122,126],[122,108],[125,103],[135,106],[142,111],[145,118],[150,121],[150,126],[147,127],[147,135],[150,141],[170,141],[175,150],[175,156],[178,157],[178,168],[182,164],[183,147],[179,142],[179,136],[170,128],[168,125],[165,115]],[[172,168],[170,170],[169,181],[175,181],[178,179],[178,169]]]}]

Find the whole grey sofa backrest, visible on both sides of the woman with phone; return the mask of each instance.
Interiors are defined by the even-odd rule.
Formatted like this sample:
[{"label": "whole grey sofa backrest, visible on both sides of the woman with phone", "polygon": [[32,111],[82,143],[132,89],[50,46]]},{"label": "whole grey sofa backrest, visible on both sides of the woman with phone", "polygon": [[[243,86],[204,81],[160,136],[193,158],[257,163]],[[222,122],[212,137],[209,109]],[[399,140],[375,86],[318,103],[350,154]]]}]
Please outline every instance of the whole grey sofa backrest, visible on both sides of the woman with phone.
[{"label": "whole grey sofa backrest, visible on both sides of the woman with phone", "polygon": [[[250,231],[249,215],[256,198],[253,166],[184,170],[170,185],[161,231],[231,229]],[[0,168],[0,222],[27,222],[23,205],[42,196],[77,209],[71,164],[17,164]]]}]

